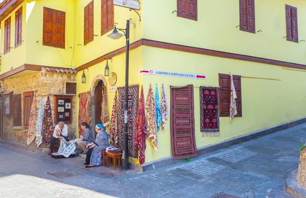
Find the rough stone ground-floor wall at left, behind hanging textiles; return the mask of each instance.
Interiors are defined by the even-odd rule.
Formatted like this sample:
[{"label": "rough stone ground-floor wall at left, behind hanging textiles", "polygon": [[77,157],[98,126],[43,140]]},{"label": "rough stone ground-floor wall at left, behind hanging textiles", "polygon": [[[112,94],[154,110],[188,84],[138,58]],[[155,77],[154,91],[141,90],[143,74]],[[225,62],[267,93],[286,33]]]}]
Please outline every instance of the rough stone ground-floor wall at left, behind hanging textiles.
[{"label": "rough stone ground-floor wall at left, behind hanging textiles", "polygon": [[[42,71],[22,75],[18,77],[8,78],[1,82],[3,92],[13,91],[13,94],[21,94],[21,126],[13,127],[13,116],[4,116],[4,138],[6,140],[27,144],[28,129],[23,129],[23,93],[25,92],[36,92],[36,105],[37,110],[39,107],[40,97],[43,97],[43,104],[45,106],[47,97],[50,98],[52,107],[52,115],[54,120],[54,95],[66,95],[66,82],[76,82],[76,74],[70,73],[57,73],[48,72],[45,69]],[[72,98],[72,122],[66,123],[69,128],[69,138],[75,138],[75,132],[77,130],[77,114],[75,108],[76,97]],[[57,123],[54,123],[56,126]],[[35,140],[30,144],[35,146]],[[46,147],[43,143],[40,147]]]}]

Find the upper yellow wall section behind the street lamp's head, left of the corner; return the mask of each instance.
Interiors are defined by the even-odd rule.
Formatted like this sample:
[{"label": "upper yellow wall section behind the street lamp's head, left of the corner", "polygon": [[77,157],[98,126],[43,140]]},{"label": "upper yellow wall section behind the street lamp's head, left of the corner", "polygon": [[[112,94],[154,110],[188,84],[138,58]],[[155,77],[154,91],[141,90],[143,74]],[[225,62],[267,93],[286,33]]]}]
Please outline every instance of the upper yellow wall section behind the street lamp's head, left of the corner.
[{"label": "upper yellow wall section behind the street lamp's head, left of the corner", "polygon": [[[94,1],[94,34],[98,35],[94,37],[94,40],[84,46],[84,7],[87,6],[91,1],[82,0],[77,1],[76,6],[76,21],[77,21],[77,35],[75,39],[76,43],[76,65],[81,66],[88,63],[106,53],[125,46],[125,38],[122,37],[118,40],[113,40],[107,37],[109,33],[101,36],[101,1]],[[142,16],[142,0],[140,0],[140,15]],[[114,22],[117,28],[125,29],[126,20],[132,19],[130,24],[130,43],[133,43],[142,38],[142,21],[139,21],[138,15],[134,11],[130,11],[129,8],[123,8],[114,6]],[[119,33],[122,33],[119,31]],[[123,33],[122,33],[123,34]],[[79,46],[78,46],[79,44]]]}]

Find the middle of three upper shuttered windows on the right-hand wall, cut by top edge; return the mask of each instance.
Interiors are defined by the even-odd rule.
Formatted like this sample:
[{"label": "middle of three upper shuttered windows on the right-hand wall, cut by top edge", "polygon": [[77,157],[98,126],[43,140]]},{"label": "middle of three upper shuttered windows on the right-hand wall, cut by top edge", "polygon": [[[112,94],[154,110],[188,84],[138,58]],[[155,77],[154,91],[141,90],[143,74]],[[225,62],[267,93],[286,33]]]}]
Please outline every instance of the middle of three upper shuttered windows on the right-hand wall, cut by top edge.
[{"label": "middle of three upper shuttered windows on the right-hand wall, cut by top edge", "polygon": [[254,0],[239,0],[240,30],[255,33],[255,2]]}]

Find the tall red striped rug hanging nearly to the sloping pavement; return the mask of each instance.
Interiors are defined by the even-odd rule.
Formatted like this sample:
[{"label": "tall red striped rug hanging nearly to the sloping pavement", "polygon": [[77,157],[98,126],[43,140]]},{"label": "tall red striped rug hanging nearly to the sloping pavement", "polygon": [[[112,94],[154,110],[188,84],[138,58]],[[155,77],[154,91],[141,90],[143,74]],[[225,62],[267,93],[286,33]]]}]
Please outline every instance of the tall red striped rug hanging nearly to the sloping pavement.
[{"label": "tall red striped rug hanging nearly to the sloping pavement", "polygon": [[196,157],[193,86],[170,86],[171,145],[173,159]]}]

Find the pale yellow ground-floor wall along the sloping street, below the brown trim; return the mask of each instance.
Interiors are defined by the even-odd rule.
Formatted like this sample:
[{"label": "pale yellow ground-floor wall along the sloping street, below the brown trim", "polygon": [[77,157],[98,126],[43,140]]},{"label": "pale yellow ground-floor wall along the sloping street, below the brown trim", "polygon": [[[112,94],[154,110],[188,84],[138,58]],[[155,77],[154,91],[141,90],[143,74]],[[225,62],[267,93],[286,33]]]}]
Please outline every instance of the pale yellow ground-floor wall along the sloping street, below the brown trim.
[{"label": "pale yellow ground-floor wall along the sloping street, below the brown trim", "polygon": [[[143,66],[145,69],[205,74],[206,80],[139,75],[143,77],[144,97],[146,98],[149,83],[155,94],[158,84],[161,96],[163,83],[170,112],[170,86],[194,86],[194,118],[196,147],[212,145],[226,139],[237,137],[260,129],[289,122],[305,116],[306,79],[304,72],[286,70],[280,66],[266,65],[247,61],[218,58],[215,56],[180,52],[143,46]],[[264,72],[263,72],[264,71]],[[241,75],[242,118],[234,118],[232,123],[228,117],[220,118],[218,137],[202,137],[200,132],[199,86],[219,86],[218,73]],[[258,78],[274,78],[267,80]],[[138,77],[138,76],[135,76]],[[157,153],[147,139],[145,162],[172,156],[170,136],[170,116],[164,133],[158,133]]]}]

